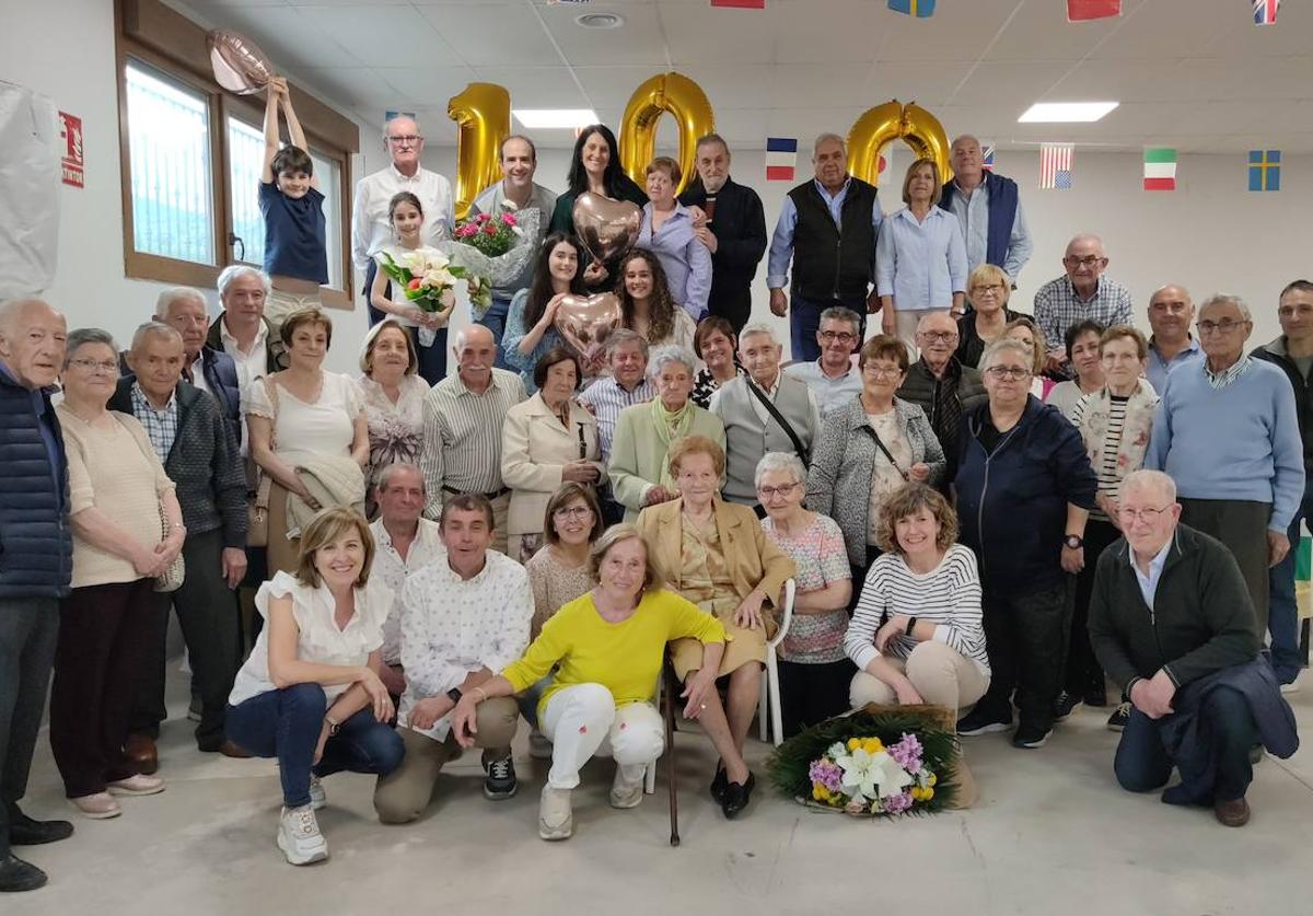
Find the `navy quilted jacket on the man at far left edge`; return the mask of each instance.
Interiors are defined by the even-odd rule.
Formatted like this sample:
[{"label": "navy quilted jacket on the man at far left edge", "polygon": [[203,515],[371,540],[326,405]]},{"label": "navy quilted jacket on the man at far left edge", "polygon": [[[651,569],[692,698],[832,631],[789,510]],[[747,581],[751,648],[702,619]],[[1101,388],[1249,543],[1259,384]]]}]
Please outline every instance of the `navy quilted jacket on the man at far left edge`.
[{"label": "navy quilted jacket on the man at far left edge", "polygon": [[[41,434],[38,403],[54,432],[55,455]],[[3,367],[0,468],[0,598],[63,597],[74,563],[63,434],[50,391],[33,392]]]}]

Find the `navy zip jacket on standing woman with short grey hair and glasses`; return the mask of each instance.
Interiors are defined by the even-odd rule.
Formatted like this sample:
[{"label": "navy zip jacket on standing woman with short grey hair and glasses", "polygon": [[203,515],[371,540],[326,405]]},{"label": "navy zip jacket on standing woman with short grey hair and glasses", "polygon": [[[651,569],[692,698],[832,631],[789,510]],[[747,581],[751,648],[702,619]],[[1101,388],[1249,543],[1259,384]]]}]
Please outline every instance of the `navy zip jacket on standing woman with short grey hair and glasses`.
[{"label": "navy zip jacket on standing woman with short grey hair and glasses", "polygon": [[[976,551],[986,592],[1028,594],[1062,581],[1067,503],[1094,508],[1099,482],[1081,433],[1029,395],[1016,425],[986,454],[989,402],[962,417],[955,487],[958,539]],[[1087,556],[1086,563],[1096,558]]]}]

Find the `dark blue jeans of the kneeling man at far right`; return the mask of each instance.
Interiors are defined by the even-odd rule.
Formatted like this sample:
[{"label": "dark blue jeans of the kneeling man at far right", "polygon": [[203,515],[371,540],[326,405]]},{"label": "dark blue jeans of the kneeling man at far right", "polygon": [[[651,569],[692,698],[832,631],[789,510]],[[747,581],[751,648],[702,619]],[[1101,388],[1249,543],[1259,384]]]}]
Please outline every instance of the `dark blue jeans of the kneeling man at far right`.
[{"label": "dark blue jeans of the kneeling man at far right", "polygon": [[[1230,688],[1217,688],[1204,701],[1199,715],[1209,717],[1212,726],[1207,731],[1213,736],[1213,755],[1217,760],[1217,782],[1213,798],[1230,802],[1243,798],[1249,783],[1254,780],[1254,766],[1249,753],[1258,744],[1258,724],[1249,709],[1245,694]],[[1163,719],[1150,719],[1138,709],[1132,707],[1130,719],[1121,741],[1112,770],[1117,782],[1127,791],[1153,791],[1167,785],[1175,765],[1158,735]]]}]

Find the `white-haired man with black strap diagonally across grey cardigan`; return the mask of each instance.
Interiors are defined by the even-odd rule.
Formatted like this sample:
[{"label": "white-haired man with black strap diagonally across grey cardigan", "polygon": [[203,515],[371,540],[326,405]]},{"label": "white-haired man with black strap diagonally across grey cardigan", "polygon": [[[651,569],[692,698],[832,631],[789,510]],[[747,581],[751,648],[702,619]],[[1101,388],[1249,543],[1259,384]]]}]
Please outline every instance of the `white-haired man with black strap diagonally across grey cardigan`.
[{"label": "white-haired man with black strap diagonally across grey cardigan", "polygon": [[767,451],[796,454],[811,463],[821,434],[821,411],[806,382],[780,371],[784,348],[768,324],[748,324],[739,335],[739,361],[747,375],[712,395],[710,411],[725,424],[725,499],[756,505],[756,463]]}]

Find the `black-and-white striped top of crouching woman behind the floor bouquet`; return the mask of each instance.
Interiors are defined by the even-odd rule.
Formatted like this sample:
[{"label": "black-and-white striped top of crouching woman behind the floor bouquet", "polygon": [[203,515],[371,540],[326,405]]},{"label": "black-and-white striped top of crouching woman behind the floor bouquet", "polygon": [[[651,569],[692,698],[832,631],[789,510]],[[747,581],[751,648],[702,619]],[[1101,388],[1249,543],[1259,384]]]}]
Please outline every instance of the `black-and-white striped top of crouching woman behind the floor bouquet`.
[{"label": "black-and-white striped top of crouching woman behind the floor bouquet", "polygon": [[[989,676],[981,623],[981,577],[976,554],[968,547],[955,543],[939,566],[924,575],[909,570],[898,554],[884,554],[872,563],[843,639],[843,648],[857,668],[865,671],[871,660],[880,656],[876,631],[894,614],[935,623],[935,642],[956,650]],[[901,635],[889,640],[884,654],[906,659],[915,647],[915,639]]]}]

